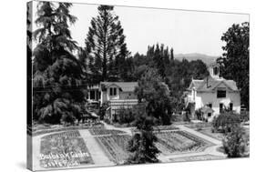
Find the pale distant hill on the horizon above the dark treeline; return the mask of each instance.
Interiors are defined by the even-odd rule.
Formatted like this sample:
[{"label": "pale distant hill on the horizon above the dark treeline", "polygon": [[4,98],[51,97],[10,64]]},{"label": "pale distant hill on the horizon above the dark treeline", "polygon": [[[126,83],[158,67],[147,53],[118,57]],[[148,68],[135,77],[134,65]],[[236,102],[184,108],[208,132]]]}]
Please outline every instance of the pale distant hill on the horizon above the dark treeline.
[{"label": "pale distant hill on the horizon above the dark treeline", "polygon": [[183,58],[187,59],[189,62],[192,60],[201,60],[206,65],[210,65],[210,63],[215,62],[218,57],[219,56],[207,56],[207,55],[203,55],[203,54],[199,54],[199,53],[174,55],[174,58],[177,60],[180,60],[180,61]]}]

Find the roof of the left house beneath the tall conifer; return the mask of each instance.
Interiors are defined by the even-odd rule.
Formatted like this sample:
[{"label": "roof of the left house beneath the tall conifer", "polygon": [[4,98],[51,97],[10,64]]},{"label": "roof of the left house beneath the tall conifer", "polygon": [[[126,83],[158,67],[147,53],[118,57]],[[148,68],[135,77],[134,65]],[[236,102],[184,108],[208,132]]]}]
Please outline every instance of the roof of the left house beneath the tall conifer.
[{"label": "roof of the left house beneath the tall conifer", "polygon": [[100,82],[100,86],[118,86],[123,92],[133,92],[138,82]]}]

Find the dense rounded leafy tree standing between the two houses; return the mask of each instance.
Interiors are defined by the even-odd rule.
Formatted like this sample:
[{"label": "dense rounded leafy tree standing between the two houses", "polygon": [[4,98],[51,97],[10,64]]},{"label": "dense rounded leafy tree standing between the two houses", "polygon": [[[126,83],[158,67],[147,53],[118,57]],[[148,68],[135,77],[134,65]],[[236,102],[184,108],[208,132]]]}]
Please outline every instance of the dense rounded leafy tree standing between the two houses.
[{"label": "dense rounded leafy tree standing between the two houses", "polygon": [[174,101],[169,96],[168,86],[161,81],[156,69],[148,67],[138,81],[135,92],[138,95],[138,102],[146,102],[148,116],[158,119],[157,124],[170,124]]}]

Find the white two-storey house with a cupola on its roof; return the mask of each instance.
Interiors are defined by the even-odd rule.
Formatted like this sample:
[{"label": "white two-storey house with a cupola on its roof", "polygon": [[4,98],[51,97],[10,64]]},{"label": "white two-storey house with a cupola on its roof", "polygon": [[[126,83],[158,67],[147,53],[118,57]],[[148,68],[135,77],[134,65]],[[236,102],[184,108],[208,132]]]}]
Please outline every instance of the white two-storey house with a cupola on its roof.
[{"label": "white two-storey house with a cupola on its roof", "polygon": [[194,117],[198,109],[202,110],[204,118],[209,121],[224,108],[240,113],[241,96],[236,83],[220,77],[220,67],[217,64],[211,64],[208,70],[210,76],[203,80],[192,79],[186,92],[185,106],[191,116]]}]

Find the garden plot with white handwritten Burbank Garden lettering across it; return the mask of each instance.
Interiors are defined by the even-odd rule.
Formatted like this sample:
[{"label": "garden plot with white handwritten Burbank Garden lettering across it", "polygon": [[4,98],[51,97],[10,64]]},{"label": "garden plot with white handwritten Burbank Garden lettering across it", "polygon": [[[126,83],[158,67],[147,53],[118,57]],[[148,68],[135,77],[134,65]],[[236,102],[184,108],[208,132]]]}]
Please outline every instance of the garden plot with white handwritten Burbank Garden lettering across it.
[{"label": "garden plot with white handwritten Burbank Garden lettering across it", "polygon": [[77,167],[93,163],[87,145],[77,130],[52,134],[41,139],[41,167]]}]

